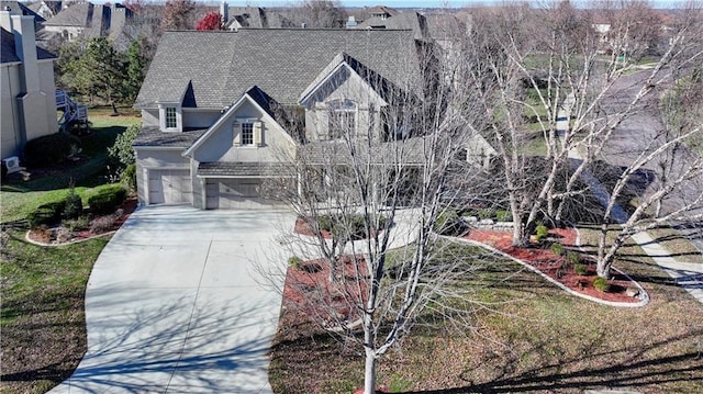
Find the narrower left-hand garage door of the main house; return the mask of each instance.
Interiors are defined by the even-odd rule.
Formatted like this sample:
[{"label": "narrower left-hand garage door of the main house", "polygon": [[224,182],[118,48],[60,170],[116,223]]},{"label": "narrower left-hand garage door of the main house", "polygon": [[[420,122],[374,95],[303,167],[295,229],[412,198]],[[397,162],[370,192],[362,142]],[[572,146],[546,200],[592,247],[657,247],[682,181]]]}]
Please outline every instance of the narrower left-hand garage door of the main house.
[{"label": "narrower left-hand garage door of the main house", "polygon": [[149,204],[192,203],[189,170],[149,170]]}]

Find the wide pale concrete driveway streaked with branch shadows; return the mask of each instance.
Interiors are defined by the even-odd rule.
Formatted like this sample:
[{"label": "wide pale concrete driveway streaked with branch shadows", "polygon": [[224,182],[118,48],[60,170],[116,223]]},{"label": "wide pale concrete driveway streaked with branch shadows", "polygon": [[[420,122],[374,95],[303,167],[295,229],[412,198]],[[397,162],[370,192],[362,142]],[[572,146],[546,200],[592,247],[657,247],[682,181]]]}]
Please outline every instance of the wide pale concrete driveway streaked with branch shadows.
[{"label": "wide pale concrete driveway streaked with branch shadows", "polygon": [[[290,214],[135,212],[104,248],[86,293],[88,352],[51,393],[270,393]],[[276,289],[278,288],[278,289]]]}]

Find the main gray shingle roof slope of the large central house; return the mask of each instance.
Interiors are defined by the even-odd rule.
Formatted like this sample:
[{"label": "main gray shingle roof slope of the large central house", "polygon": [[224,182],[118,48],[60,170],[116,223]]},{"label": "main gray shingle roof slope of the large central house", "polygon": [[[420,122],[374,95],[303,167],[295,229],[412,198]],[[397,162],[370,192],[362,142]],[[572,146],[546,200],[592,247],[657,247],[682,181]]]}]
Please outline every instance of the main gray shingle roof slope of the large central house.
[{"label": "main gray shingle roof slope of the large central house", "polygon": [[222,109],[253,86],[279,103],[297,103],[342,52],[395,86],[420,93],[420,67],[411,31],[188,31],[164,34],[135,106],[178,101],[189,82],[200,108]]}]

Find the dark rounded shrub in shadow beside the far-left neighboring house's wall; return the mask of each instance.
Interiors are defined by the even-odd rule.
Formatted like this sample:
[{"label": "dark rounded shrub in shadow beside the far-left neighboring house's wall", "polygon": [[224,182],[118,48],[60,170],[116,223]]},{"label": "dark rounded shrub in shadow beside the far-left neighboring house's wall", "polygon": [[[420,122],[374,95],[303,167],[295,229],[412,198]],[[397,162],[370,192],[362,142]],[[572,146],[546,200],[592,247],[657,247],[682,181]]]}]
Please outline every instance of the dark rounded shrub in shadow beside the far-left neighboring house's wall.
[{"label": "dark rounded shrub in shadow beside the far-left neighboring house's wall", "polygon": [[80,146],[80,140],[68,133],[54,133],[34,138],[24,146],[24,161],[30,167],[57,165]]}]

